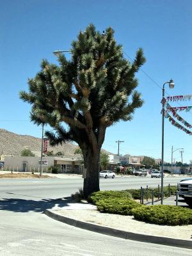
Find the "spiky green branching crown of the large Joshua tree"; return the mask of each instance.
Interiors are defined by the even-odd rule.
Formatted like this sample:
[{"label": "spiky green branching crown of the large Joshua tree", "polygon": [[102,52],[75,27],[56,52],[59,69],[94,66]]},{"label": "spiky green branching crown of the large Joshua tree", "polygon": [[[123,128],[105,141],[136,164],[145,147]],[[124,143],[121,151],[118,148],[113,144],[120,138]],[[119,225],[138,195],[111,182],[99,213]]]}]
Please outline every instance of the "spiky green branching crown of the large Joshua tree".
[{"label": "spiky green branching crown of the large Joshua tree", "polygon": [[42,60],[40,72],[28,81],[29,92],[20,92],[20,98],[32,105],[31,120],[54,127],[56,132],[45,133],[51,144],[76,141],[84,158],[88,150],[99,156],[106,128],[131,120],[143,104],[135,90],[135,73],[145,62],[143,51],[139,49],[130,63],[113,35],[112,28],[102,35],[90,24],[72,42],[71,60],[63,54],[59,65]]}]

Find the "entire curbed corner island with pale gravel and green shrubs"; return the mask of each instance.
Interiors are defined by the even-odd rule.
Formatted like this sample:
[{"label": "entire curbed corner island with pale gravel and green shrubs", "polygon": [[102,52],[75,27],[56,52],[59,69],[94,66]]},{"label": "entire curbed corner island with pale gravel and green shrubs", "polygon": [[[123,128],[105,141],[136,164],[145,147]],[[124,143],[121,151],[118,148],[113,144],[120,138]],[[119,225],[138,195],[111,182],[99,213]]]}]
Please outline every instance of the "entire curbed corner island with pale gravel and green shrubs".
[{"label": "entire curbed corner island with pale gravel and green shrubs", "polygon": [[71,198],[47,204],[45,214],[68,225],[109,236],[192,249],[191,209],[141,205],[140,189],[99,191],[90,195],[88,201],[82,197],[80,189]]}]

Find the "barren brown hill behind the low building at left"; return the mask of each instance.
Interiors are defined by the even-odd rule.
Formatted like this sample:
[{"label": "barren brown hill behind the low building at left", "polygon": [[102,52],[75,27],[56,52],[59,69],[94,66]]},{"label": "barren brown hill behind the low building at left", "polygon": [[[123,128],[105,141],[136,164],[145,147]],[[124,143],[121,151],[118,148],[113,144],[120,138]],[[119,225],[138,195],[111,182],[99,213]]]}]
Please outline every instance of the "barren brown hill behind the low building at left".
[{"label": "barren brown hill behind the low building at left", "polygon": [[[0,129],[0,154],[3,155],[19,156],[20,152],[24,148],[29,148],[31,151],[41,150],[41,139],[35,138],[29,135],[20,135],[13,132],[6,131],[5,129]],[[56,152],[63,152],[65,155],[70,156],[74,154],[77,146],[73,143],[63,143],[63,145],[58,145],[51,147],[48,145],[47,150]]]}]

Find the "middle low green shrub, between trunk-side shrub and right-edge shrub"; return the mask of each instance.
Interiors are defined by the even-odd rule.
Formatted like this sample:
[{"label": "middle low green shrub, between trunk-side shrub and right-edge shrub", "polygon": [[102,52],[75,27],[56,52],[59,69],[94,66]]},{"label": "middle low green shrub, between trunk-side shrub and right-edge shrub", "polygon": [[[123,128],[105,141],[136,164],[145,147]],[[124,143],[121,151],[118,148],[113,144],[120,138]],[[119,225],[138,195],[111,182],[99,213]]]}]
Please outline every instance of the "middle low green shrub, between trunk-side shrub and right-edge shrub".
[{"label": "middle low green shrub, between trunk-side shrub and right-edge shrub", "polygon": [[121,215],[132,215],[132,209],[141,207],[140,204],[129,198],[101,199],[96,205],[97,209],[101,212]]}]

